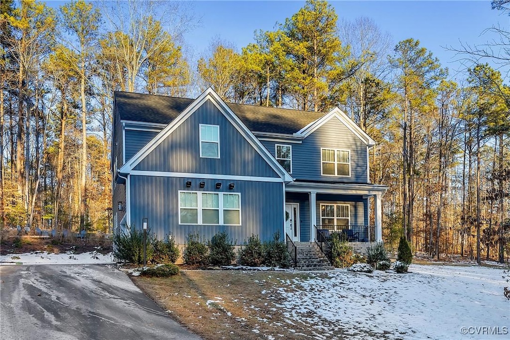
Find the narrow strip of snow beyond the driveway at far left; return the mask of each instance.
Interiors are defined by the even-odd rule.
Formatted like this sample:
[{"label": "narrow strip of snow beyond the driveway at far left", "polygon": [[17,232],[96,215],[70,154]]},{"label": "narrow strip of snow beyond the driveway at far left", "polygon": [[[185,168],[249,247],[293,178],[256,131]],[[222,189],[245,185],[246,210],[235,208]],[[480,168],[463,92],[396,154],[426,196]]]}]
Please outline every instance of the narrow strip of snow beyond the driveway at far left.
[{"label": "narrow strip of snow beyond the driveway at far left", "polygon": [[110,264],[112,253],[103,255],[96,251],[74,254],[72,252],[54,254],[34,251],[24,254],[0,255],[0,265],[69,265],[69,264]]}]

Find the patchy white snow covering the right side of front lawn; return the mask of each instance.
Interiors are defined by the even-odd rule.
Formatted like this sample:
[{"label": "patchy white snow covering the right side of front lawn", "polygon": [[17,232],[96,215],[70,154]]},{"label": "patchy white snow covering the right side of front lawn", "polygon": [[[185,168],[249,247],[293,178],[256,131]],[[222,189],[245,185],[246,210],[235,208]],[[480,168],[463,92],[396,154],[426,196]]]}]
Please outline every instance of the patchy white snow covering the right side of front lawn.
[{"label": "patchy white snow covering the right side of front lawn", "polygon": [[[316,338],[508,338],[508,283],[498,268],[411,265],[410,273],[346,270],[281,280],[277,307]],[[289,320],[289,321],[290,321]],[[463,328],[466,327],[466,328]]]}]

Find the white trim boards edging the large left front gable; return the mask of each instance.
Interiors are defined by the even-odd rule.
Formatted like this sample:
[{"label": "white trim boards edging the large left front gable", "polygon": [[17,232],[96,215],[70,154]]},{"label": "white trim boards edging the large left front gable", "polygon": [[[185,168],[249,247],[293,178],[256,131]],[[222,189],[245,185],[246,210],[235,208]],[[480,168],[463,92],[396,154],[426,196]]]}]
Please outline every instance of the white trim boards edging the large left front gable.
[{"label": "white trim boards edging the large left front gable", "polygon": [[121,173],[130,173],[151,151],[160,145],[174,130],[184,123],[203,103],[208,99],[218,108],[218,110],[234,125],[241,135],[250,143],[250,145],[258,151],[271,168],[287,182],[293,181],[292,176],[276,162],[271,153],[262,145],[262,143],[250,132],[241,120],[228,108],[225,102],[218,96],[213,89],[209,88],[196,98],[189,106],[173,121],[171,121],[161,132],[156,135],[150,142],[141,148],[127,163],[125,163],[119,171]]}]

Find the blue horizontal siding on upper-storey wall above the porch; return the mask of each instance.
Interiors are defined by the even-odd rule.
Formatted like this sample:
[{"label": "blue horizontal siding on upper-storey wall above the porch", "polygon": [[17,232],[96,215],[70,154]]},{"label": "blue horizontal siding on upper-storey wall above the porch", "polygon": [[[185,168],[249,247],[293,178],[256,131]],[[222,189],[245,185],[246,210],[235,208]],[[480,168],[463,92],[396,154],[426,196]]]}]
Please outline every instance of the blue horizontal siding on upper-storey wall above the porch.
[{"label": "blue horizontal siding on upper-storey wall above the porch", "polygon": [[[333,117],[299,143],[262,141],[275,156],[275,144],[292,146],[292,177],[296,179],[367,182],[367,145]],[[351,176],[323,176],[321,148],[350,150]]]}]

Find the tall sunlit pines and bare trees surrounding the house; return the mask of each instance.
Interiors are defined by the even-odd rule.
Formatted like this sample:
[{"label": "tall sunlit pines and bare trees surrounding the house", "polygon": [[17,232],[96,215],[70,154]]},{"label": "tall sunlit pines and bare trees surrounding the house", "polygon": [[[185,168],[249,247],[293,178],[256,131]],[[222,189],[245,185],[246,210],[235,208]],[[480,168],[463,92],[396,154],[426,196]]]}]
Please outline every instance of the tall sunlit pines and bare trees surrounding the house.
[{"label": "tall sunlit pines and bare trees surrounding the house", "polygon": [[[390,247],[403,235],[429,257],[508,252],[510,89],[507,74],[469,58],[476,47],[457,51],[469,63],[455,81],[419,40],[395,44],[372,19],[340,20],[309,0],[240,50],[214,39],[195,63],[186,3],[0,6],[2,226],[108,231],[113,91],[211,86],[227,102],[347,113],[377,142],[370,178],[389,187]],[[508,66],[508,35],[496,34]]]}]

